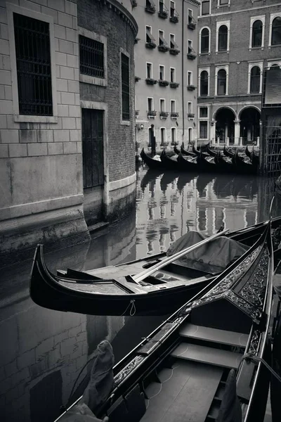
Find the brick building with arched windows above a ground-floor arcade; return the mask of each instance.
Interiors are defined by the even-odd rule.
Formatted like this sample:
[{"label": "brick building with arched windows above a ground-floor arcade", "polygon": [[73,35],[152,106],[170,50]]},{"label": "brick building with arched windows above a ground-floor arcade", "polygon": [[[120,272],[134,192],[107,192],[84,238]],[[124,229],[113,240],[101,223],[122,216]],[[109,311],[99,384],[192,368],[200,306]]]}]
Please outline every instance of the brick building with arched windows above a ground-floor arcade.
[{"label": "brick building with arched windows above a ground-floor arcade", "polygon": [[259,146],[263,70],[281,65],[280,1],[202,0],[198,142]]}]

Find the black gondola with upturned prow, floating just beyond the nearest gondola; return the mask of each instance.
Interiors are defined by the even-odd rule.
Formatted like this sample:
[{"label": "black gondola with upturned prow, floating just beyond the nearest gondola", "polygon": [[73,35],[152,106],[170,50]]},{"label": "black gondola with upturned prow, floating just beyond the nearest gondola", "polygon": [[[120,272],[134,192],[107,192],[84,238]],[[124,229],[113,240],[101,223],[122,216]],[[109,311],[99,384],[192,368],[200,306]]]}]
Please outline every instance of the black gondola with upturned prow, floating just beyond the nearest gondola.
[{"label": "black gondola with upturned prow, floating just beyond the nearest gondola", "polygon": [[[278,222],[281,222],[281,218],[276,219],[276,224]],[[234,231],[226,234],[223,240],[231,239],[231,242],[239,242],[238,245],[234,244],[238,249],[241,243],[252,245],[261,234],[263,225],[257,224],[248,229]],[[182,249],[183,242],[186,241],[194,244],[193,236],[196,235],[198,239],[199,235],[197,232],[192,232],[191,235],[191,239],[190,234],[178,239],[170,248],[181,245]],[[202,235],[200,236],[199,238],[202,238]],[[213,250],[215,247],[216,252]],[[168,255],[162,253],[131,263],[83,272],[67,269],[67,272],[60,271],[59,275],[54,275],[44,262],[43,246],[38,245],[32,265],[30,296],[37,305],[65,312],[98,315],[166,314],[167,309],[170,311],[177,309],[184,299],[192,297],[209,283],[214,273],[219,271],[220,265],[218,262],[211,264],[208,254],[210,252],[218,259],[218,256],[224,254],[225,249],[223,246],[221,250],[220,243],[214,242],[207,250],[207,255],[205,254],[206,262],[205,255],[200,252],[199,262],[197,258],[189,255],[188,260],[184,257],[178,259],[169,265],[166,264],[161,271],[158,269],[159,265],[169,257],[169,250]],[[236,253],[235,250],[230,250],[230,255]],[[223,260],[225,259],[226,257],[223,257]],[[147,270],[152,271],[151,267],[154,264],[157,264],[157,271],[153,275],[148,275]],[[144,270],[143,281],[135,281]]]}]

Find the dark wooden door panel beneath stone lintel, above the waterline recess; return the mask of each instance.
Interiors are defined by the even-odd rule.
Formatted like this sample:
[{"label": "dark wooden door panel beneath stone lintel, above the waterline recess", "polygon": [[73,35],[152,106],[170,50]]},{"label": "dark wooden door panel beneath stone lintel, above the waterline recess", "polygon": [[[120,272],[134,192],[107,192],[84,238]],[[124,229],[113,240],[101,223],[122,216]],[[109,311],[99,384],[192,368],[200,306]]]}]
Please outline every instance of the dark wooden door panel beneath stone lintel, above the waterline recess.
[{"label": "dark wooden door panel beneath stone lintel, above the waterline recess", "polygon": [[103,185],[103,110],[82,108],[84,188]]}]

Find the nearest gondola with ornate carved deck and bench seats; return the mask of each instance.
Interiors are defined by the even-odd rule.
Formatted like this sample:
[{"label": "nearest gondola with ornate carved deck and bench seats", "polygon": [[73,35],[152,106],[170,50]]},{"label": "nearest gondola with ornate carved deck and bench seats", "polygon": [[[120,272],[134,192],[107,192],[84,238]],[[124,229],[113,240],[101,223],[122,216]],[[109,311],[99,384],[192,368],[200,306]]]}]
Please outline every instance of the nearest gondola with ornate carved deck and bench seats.
[{"label": "nearest gondola with ornate carved deck and bench seats", "polygon": [[272,281],[269,222],[237,262],[107,365],[107,399],[91,411],[110,422],[263,422],[269,372],[256,358],[269,361]]}]

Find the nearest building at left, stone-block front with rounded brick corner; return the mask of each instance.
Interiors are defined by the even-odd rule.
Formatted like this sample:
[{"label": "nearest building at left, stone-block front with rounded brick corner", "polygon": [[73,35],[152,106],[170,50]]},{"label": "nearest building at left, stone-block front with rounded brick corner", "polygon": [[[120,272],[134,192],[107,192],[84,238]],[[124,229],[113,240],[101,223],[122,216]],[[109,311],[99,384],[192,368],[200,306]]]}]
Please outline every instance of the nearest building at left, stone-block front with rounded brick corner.
[{"label": "nearest building at left, stone-block front with rounded brick corner", "polygon": [[89,240],[134,203],[136,21],[117,0],[2,0],[0,22],[0,250]]}]

